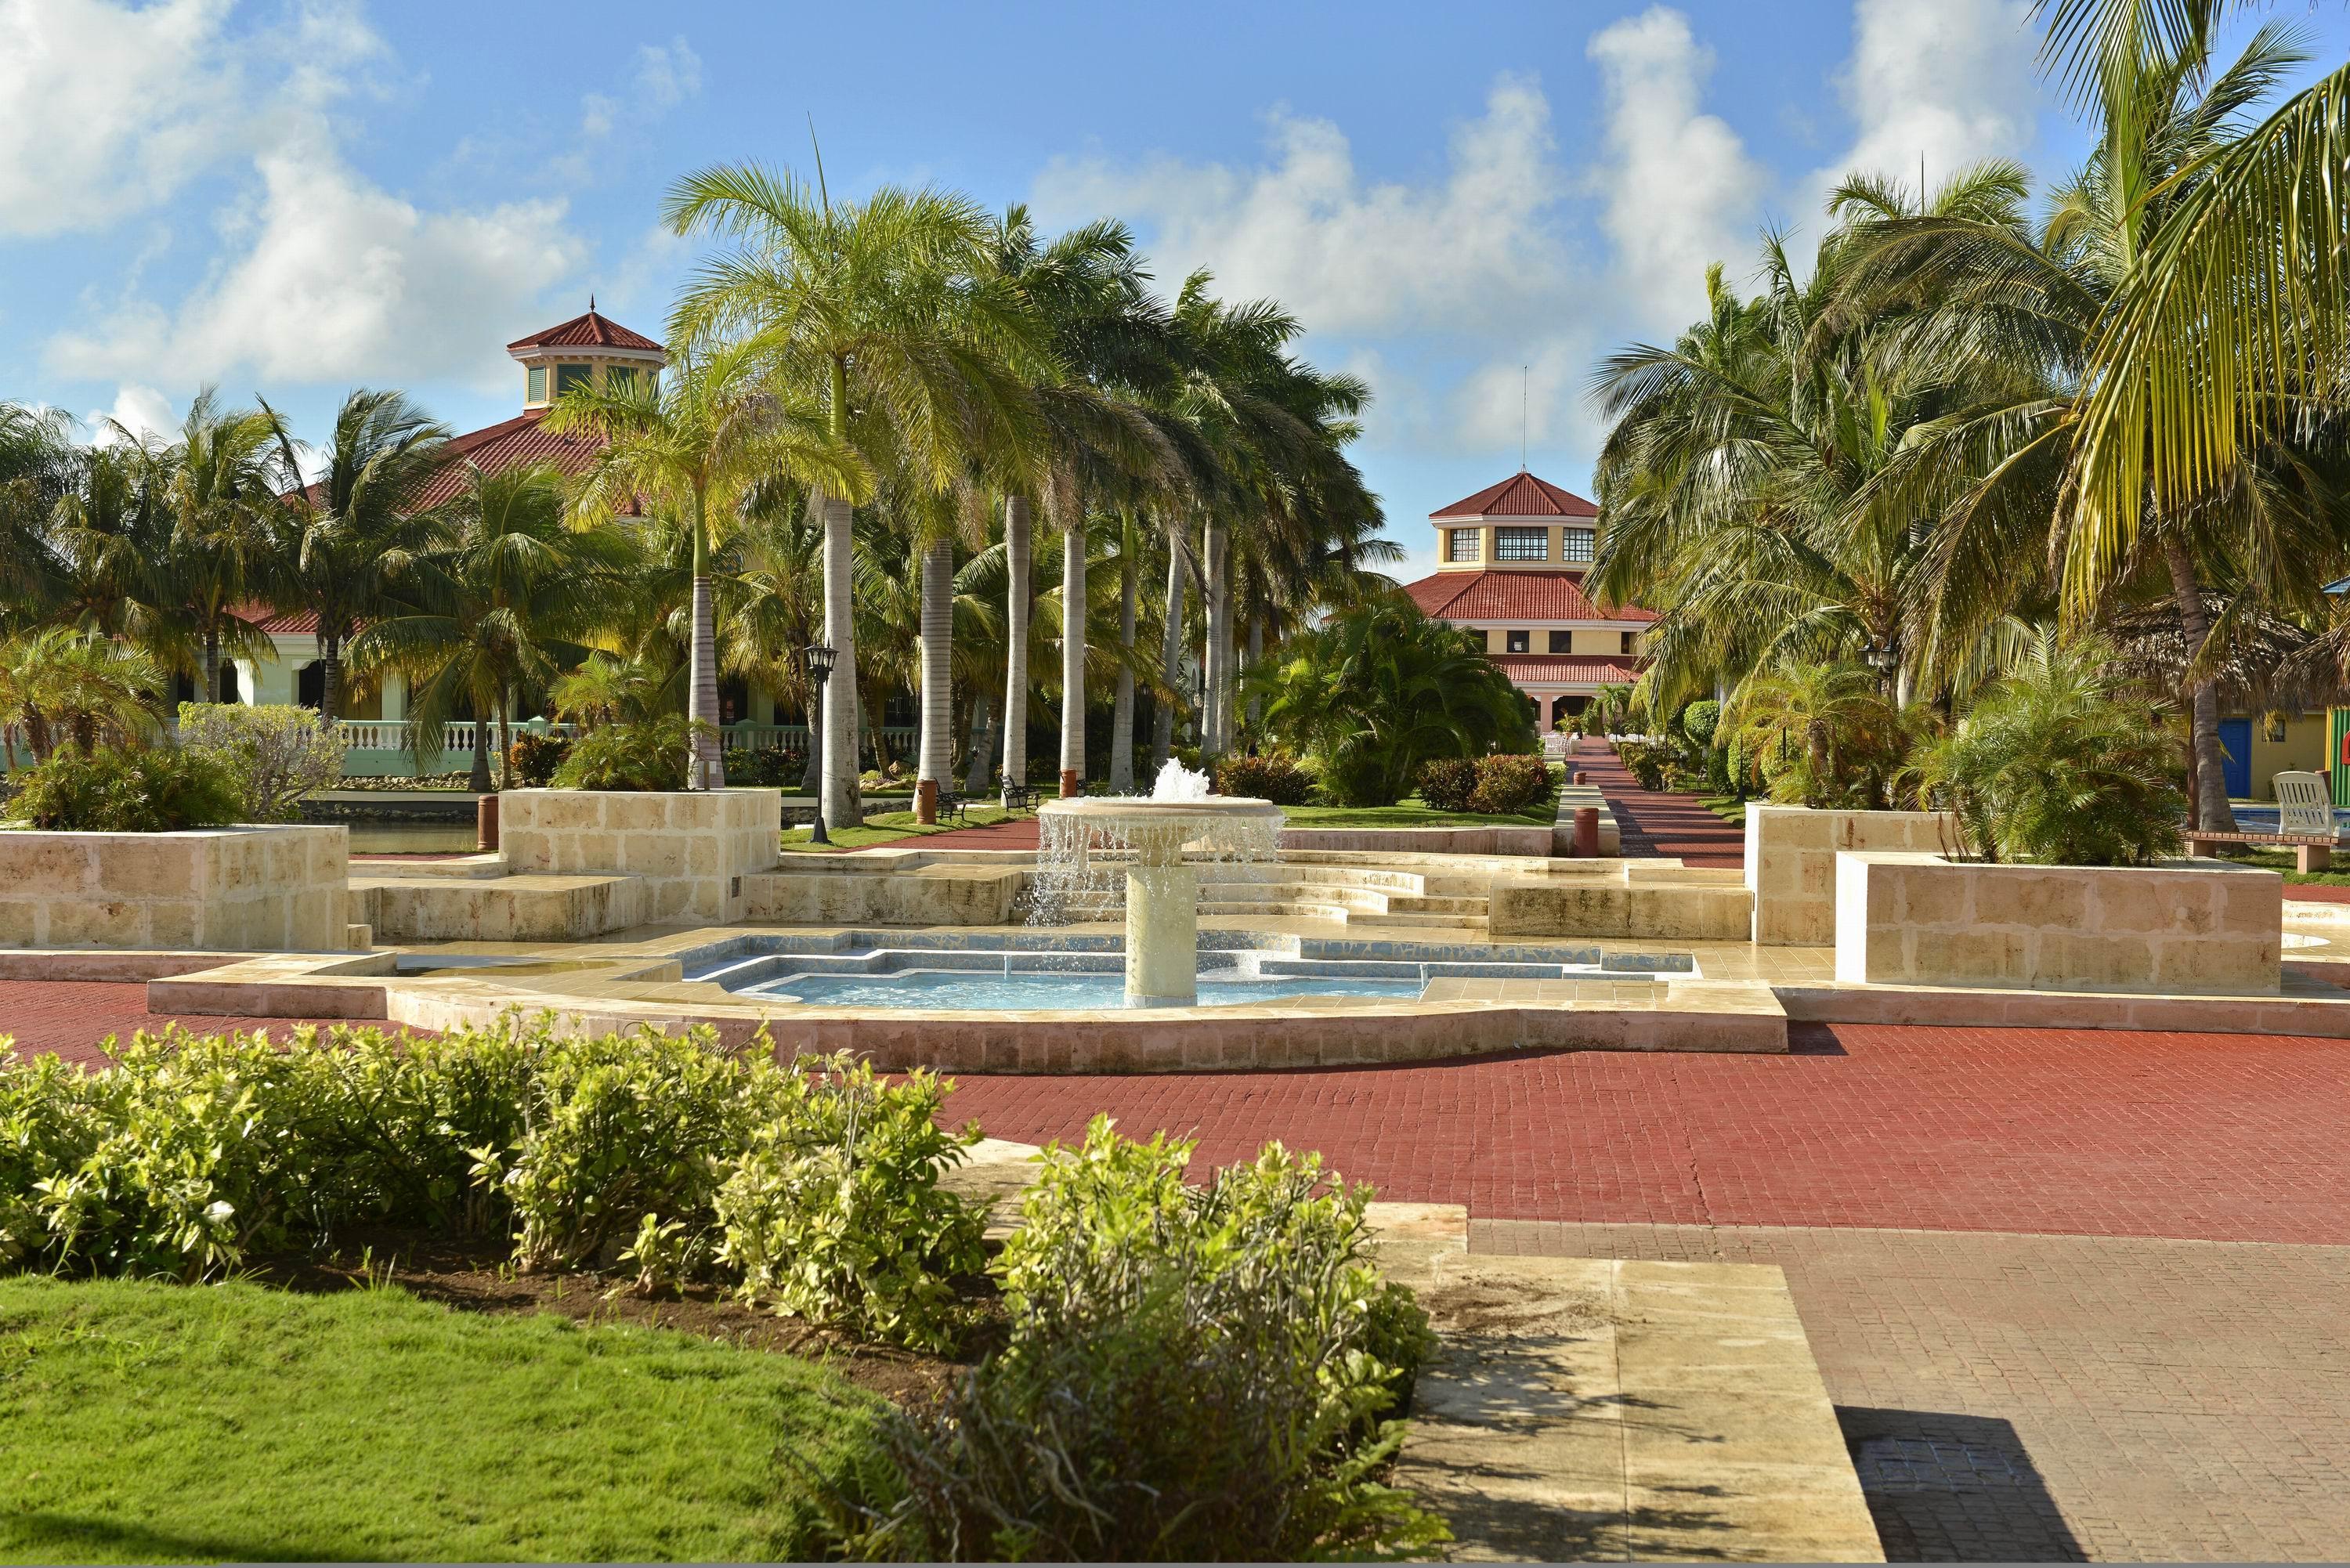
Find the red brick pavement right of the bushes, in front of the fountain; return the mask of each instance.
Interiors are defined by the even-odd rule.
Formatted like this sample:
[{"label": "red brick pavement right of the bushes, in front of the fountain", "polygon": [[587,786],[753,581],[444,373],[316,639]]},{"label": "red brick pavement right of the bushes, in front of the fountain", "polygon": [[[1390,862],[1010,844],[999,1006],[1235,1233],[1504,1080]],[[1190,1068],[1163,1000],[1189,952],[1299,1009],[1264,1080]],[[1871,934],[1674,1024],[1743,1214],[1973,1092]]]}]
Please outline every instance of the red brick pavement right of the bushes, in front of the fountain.
[{"label": "red brick pavement right of the bushes, in front of the fountain", "polygon": [[1805,1030],[1781,1058],[1560,1053],[1189,1077],[964,1077],[994,1138],[1267,1138],[1480,1218],[2350,1241],[2350,1046]]}]

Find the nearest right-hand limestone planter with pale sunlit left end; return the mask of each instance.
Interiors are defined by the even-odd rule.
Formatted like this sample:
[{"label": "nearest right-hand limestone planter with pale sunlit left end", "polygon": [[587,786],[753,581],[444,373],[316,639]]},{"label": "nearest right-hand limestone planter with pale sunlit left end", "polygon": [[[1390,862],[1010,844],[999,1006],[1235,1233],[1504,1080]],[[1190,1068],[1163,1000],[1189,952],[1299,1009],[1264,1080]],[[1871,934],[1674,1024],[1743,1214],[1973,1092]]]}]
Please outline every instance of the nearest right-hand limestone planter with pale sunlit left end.
[{"label": "nearest right-hand limestone planter with pale sunlit left end", "polygon": [[2284,877],[2244,865],[1835,858],[1847,985],[2275,992],[2282,931]]}]

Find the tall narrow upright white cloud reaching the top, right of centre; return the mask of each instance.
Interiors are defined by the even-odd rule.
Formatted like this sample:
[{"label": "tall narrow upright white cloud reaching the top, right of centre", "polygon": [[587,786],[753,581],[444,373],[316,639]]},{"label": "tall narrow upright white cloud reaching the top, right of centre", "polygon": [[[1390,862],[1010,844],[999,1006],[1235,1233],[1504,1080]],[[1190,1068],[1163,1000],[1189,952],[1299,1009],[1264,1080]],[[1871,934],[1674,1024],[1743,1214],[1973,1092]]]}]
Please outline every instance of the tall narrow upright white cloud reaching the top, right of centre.
[{"label": "tall narrow upright white cloud reaching the top, right of centre", "polygon": [[1617,280],[1647,334],[1673,334],[1706,299],[1706,263],[1753,249],[1772,176],[1718,115],[1699,108],[1713,49],[1654,5],[1596,33],[1607,155],[1593,172]]}]

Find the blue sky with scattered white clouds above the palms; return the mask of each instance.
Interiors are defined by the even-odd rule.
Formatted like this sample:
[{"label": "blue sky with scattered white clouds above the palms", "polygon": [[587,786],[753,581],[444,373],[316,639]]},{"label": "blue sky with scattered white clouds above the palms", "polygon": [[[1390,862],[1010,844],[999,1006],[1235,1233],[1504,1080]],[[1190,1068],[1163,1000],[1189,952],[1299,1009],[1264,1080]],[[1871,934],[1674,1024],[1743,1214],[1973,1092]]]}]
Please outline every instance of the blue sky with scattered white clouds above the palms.
[{"label": "blue sky with scattered white clouds above the palms", "polygon": [[[2334,0],[2258,19],[2303,78],[2350,54]],[[1593,364],[1765,226],[1802,254],[1842,172],[2075,165],[2035,45],[2028,0],[0,0],[0,400],[85,435],[207,383],[306,435],[352,386],[508,418],[503,346],[590,294],[660,336],[670,181],[808,172],[813,125],[834,193],[1119,216],[1168,292],[1288,303],[1372,388],[1354,456],[1412,578],[1520,440],[1589,494]]]}]

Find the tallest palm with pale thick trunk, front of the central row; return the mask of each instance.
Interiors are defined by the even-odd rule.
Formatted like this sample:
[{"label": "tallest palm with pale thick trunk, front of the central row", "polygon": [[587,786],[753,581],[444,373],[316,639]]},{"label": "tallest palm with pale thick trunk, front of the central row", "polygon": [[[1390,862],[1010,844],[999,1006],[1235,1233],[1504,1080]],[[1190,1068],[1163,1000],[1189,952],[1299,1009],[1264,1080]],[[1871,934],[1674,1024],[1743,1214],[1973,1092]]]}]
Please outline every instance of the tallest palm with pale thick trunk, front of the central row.
[{"label": "tallest palm with pale thick trunk, front of the central row", "polygon": [[[736,240],[707,259],[670,317],[677,343],[740,339],[778,397],[813,407],[834,449],[858,454],[815,482],[825,515],[825,642],[855,691],[853,508],[872,475],[905,473],[947,489],[966,473],[975,435],[1015,425],[1027,388],[1013,362],[1034,360],[1034,327],[1018,292],[987,263],[987,219],[940,190],[881,188],[832,202],[757,165],[689,174],[663,207],[686,233]],[[825,708],[825,813],[853,820],[858,703]]]}]

